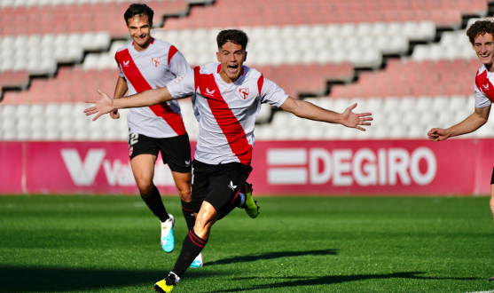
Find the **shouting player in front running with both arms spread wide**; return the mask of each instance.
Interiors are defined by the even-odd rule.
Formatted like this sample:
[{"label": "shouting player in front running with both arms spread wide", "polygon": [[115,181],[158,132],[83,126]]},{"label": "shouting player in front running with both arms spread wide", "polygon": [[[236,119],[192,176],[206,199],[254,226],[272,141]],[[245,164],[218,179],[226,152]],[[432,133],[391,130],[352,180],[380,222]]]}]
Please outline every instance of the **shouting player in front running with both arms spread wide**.
[{"label": "shouting player in front running with both arms spread wide", "polygon": [[[252,171],[255,116],[261,103],[281,107],[302,118],[340,123],[360,131],[365,131],[361,126],[370,125],[372,120],[370,113],[352,113],[357,104],[339,114],[288,97],[276,83],[254,68],[243,66],[248,37],[241,30],[223,30],[216,42],[220,63],[195,67],[165,88],[126,99],[110,99],[98,90],[102,98],[87,101],[96,106],[84,110],[86,115],[98,114],[93,119],[96,120],[114,109],[147,107],[196,93],[194,109],[200,131],[192,163],[192,203],[198,216],[173,270],[154,285],[158,292],[171,292],[176,287],[194,257],[208,243],[211,227],[218,219],[236,207],[244,208],[251,218],[257,217],[259,208],[245,182]],[[245,194],[239,193],[242,186],[246,187]]]}]

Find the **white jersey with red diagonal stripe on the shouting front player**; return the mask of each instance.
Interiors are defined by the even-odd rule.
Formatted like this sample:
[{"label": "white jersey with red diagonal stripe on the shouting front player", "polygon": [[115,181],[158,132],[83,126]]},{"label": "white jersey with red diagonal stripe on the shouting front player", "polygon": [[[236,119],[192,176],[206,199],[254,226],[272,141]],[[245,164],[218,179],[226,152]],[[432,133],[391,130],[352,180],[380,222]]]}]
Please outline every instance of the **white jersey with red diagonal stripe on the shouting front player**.
[{"label": "white jersey with red diagonal stripe on the shouting front player", "polygon": [[196,93],[192,102],[199,135],[194,159],[214,165],[249,165],[255,143],[255,116],[261,103],[280,107],[288,95],[253,68],[242,67],[242,75],[234,83],[225,83],[220,69],[220,63],[195,67],[167,87],[174,99]]}]

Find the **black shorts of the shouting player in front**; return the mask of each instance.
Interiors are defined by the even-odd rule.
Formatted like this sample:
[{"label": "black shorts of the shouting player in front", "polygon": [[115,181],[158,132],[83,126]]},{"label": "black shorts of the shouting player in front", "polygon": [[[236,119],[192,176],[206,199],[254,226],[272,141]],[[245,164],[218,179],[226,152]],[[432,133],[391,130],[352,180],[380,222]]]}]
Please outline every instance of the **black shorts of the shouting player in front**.
[{"label": "black shorts of the shouting player in front", "polygon": [[[194,212],[199,212],[200,205],[206,201],[211,203],[216,211],[233,200],[241,186],[246,182],[251,166],[240,162],[229,162],[210,165],[194,160],[192,162],[192,206]],[[220,189],[222,196],[209,194],[211,189]]]}]

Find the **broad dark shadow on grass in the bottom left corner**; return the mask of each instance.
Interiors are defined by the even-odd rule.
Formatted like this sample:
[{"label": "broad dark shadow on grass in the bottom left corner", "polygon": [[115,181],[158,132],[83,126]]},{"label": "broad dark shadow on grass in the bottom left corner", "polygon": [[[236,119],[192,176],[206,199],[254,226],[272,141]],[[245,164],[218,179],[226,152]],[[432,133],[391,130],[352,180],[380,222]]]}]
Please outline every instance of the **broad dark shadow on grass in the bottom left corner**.
[{"label": "broad dark shadow on grass in the bottom left corner", "polygon": [[[59,292],[84,289],[118,288],[144,284],[152,291],[156,281],[168,271],[105,270],[51,267],[0,266],[0,292]],[[206,272],[187,272],[208,277]],[[116,291],[120,291],[116,289]]]}]

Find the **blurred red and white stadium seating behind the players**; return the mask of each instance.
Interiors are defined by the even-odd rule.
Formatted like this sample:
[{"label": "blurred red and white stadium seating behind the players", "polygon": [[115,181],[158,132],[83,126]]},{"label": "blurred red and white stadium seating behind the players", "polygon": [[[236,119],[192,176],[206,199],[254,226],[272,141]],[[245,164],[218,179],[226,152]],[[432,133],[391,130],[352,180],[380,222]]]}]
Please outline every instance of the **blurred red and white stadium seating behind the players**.
[{"label": "blurred red and white stadium seating behind the players", "polygon": [[[91,123],[82,115],[87,106],[82,100],[96,97],[97,88],[114,91],[114,53],[128,42],[121,40],[128,37],[122,14],[130,3],[0,0],[0,88],[22,90],[4,93],[0,140],[127,139],[127,111],[121,111],[122,119],[106,115]],[[216,61],[217,33],[240,27],[251,39],[246,65],[289,95],[319,97],[306,100],[339,112],[357,102],[357,112],[372,112],[375,119],[361,132],[263,105],[258,140],[425,139],[431,127],[459,123],[474,109],[473,75],[480,63],[460,29],[461,18],[484,16],[486,0],[145,3],[153,7],[158,25],[164,15],[180,16],[153,36],[175,44],[192,65]],[[189,4],[211,5],[191,9]],[[192,104],[189,99],[180,104],[194,140]],[[466,137],[494,137],[493,130],[489,122]]]}]

